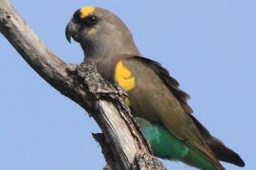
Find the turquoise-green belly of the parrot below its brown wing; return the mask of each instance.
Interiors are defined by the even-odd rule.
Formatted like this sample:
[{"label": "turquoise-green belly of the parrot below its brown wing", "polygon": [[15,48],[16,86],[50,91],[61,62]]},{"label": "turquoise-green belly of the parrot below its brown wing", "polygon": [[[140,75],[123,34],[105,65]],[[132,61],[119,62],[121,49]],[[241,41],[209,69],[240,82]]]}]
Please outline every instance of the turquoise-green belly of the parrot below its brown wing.
[{"label": "turquoise-green belly of the parrot below its brown wing", "polygon": [[202,154],[192,149],[190,145],[178,140],[160,123],[151,123],[140,117],[136,117],[135,119],[156,157],[167,160],[183,161],[200,169],[217,169]]}]

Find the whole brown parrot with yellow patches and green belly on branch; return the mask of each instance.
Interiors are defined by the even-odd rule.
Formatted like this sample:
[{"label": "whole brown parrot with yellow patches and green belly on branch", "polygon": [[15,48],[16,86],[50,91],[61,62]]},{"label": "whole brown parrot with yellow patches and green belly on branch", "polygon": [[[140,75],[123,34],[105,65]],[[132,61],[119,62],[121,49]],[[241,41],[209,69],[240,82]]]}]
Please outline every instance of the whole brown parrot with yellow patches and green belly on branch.
[{"label": "whole brown parrot with yellow patches and green belly on branch", "polygon": [[65,36],[80,43],[84,60],[93,61],[104,79],[128,94],[126,104],[155,157],[203,170],[225,169],[220,161],[245,166],[192,115],[189,94],[160,63],[139,53],[130,30],[113,12],[79,8]]}]

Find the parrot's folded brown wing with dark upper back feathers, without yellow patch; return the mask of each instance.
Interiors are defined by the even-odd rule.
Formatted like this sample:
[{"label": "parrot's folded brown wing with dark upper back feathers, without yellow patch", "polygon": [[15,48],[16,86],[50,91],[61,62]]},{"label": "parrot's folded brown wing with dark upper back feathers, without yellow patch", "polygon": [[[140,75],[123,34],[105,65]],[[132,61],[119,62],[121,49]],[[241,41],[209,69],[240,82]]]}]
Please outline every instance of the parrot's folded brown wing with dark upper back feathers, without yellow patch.
[{"label": "parrot's folded brown wing with dark upper back feathers, without yellow patch", "polygon": [[[167,80],[166,77],[170,76],[159,64],[145,60],[138,57],[122,60],[135,78],[135,88],[128,92],[132,109],[138,116],[161,122],[175,137],[190,144],[222,169],[210,147],[202,139],[190,114],[184,110],[186,97],[177,88],[178,83],[174,78]],[[159,75],[164,75],[165,81]],[[177,91],[182,92],[178,98]]]}]

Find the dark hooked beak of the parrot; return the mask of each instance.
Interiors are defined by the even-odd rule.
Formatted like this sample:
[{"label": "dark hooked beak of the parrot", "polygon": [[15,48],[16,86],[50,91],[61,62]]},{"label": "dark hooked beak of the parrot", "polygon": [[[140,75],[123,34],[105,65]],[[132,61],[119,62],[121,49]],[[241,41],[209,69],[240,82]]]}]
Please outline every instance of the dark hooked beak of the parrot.
[{"label": "dark hooked beak of the parrot", "polygon": [[75,24],[73,21],[70,21],[67,26],[65,27],[65,38],[66,40],[71,43],[71,38],[79,42],[79,36],[78,31],[80,29],[80,26],[78,24]]}]

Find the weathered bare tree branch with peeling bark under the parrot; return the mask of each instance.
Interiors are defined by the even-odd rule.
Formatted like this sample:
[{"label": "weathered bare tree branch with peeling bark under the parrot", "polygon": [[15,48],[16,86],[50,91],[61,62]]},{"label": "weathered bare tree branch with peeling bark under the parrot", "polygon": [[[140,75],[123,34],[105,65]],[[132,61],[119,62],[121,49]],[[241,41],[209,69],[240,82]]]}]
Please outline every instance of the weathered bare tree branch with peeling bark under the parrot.
[{"label": "weathered bare tree branch with peeling bark under the parrot", "polygon": [[165,169],[151,154],[123,102],[125,93],[106,82],[92,62],[67,64],[52,54],[9,5],[0,0],[0,32],[47,83],[96,120],[106,169]]}]

